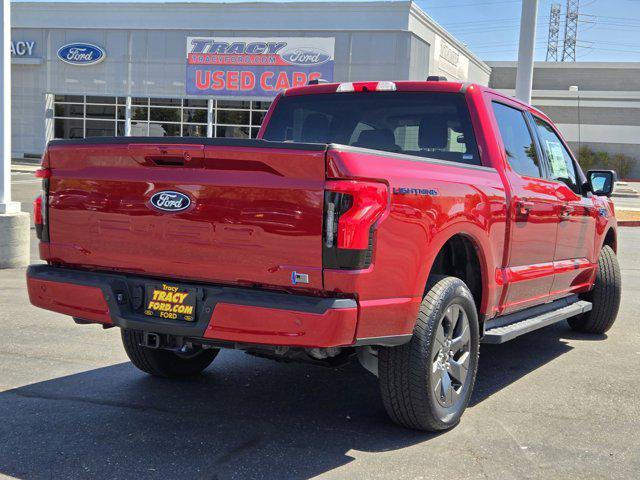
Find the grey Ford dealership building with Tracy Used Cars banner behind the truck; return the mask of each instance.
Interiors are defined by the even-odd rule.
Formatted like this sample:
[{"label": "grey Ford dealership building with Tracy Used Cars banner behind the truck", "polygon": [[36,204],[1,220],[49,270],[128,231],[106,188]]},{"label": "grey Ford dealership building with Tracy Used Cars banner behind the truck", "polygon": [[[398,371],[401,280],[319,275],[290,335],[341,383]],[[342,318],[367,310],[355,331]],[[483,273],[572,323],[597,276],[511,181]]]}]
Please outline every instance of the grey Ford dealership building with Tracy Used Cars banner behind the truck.
[{"label": "grey Ford dealership building with Tracy Used Cars banner behind the truck", "polygon": [[38,3],[12,14],[12,154],[53,138],[254,137],[309,80],[488,84],[412,2]]}]

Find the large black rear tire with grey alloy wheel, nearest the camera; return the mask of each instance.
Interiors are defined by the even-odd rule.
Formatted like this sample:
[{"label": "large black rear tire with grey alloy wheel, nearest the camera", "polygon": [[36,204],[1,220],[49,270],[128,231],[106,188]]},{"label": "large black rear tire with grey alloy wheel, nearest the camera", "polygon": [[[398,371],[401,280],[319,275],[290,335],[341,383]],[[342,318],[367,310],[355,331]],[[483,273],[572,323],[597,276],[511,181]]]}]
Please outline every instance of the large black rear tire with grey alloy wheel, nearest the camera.
[{"label": "large black rear tire with grey alloy wheel, nearest the camera", "polygon": [[[451,316],[450,307],[455,308],[454,316],[460,319],[456,322],[461,325],[463,317],[459,311],[462,310],[466,315],[468,339],[463,345],[467,349],[464,358],[468,363],[465,377],[459,382],[459,391],[456,390],[458,387],[453,388],[454,383],[458,382],[455,375],[453,372],[447,372],[449,386],[453,388],[453,392],[451,393],[452,404],[446,406],[447,402],[441,403],[445,400],[442,392],[443,385],[446,383],[444,382],[446,368],[442,367],[440,359],[443,355],[441,339],[442,335],[446,334],[444,325],[455,323],[447,322],[448,316]],[[447,338],[453,338],[457,344],[464,335],[459,332],[454,333],[456,325],[451,327],[452,334]],[[456,348],[451,343],[449,345],[447,349]],[[478,367],[478,351],[478,314],[469,288],[462,280],[455,277],[431,278],[420,306],[411,341],[397,347],[384,347],[378,352],[378,377],[382,401],[391,419],[407,428],[431,432],[455,426],[471,398]],[[456,365],[458,361],[462,363],[462,356],[457,360],[455,356],[450,358],[447,356],[447,358],[447,365],[449,361]],[[461,371],[459,367],[456,369],[458,376]],[[434,376],[440,376],[440,380]]]}]

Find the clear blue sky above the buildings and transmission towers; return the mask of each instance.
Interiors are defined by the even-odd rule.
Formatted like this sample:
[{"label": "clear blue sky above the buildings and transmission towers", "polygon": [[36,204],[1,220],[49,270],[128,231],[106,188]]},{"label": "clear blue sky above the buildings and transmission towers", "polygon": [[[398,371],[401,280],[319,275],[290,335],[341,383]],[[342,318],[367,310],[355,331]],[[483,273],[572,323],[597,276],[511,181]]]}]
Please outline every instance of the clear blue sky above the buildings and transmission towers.
[{"label": "clear blue sky above the buildings and transmission towers", "polygon": [[[415,3],[483,60],[517,59],[521,0],[416,0]],[[536,60],[545,60],[552,3],[562,6],[559,36],[562,52],[566,0],[539,0]],[[576,60],[640,62],[640,0],[581,0]]]}]

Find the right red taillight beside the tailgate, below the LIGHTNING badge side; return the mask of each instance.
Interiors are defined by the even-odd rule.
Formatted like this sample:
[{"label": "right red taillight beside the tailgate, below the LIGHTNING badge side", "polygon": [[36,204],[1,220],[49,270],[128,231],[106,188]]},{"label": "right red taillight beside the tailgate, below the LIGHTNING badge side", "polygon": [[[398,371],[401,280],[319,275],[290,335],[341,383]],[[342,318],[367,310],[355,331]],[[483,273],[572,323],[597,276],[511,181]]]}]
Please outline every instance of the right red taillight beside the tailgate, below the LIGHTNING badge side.
[{"label": "right red taillight beside the tailgate, below the LIGHTNING badge side", "polygon": [[383,183],[331,180],[325,187],[323,265],[361,269],[371,264],[373,235],[387,210],[389,190]]}]

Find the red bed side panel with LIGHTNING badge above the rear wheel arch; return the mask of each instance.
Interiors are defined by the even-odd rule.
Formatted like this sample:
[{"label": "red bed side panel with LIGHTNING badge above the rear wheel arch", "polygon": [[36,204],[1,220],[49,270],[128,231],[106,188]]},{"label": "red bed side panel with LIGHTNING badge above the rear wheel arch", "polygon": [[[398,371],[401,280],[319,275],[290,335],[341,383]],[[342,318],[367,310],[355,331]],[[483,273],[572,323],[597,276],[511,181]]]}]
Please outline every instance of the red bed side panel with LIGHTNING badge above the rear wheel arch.
[{"label": "red bed side panel with LIGHTNING badge above the rear wheel arch", "polygon": [[342,146],[332,147],[328,157],[330,178],[369,178],[389,185],[389,210],[375,233],[372,265],[366,271],[324,272],[326,289],[358,293],[358,338],[413,331],[429,271],[456,234],[477,247],[481,311],[497,304],[494,271],[504,251],[506,203],[494,168]]}]

